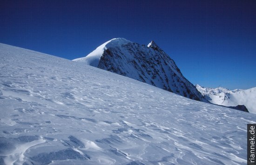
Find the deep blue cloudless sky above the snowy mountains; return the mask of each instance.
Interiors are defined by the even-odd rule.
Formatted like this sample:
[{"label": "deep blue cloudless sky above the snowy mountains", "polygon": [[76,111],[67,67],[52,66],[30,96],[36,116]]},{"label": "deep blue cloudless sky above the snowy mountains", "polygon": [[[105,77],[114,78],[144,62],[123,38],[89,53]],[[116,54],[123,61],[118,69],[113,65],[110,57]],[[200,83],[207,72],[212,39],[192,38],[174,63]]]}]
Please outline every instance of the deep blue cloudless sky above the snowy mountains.
[{"label": "deep blue cloudless sky above the snowy mountains", "polygon": [[67,59],[154,40],[191,83],[256,87],[256,0],[0,0],[0,43]]}]

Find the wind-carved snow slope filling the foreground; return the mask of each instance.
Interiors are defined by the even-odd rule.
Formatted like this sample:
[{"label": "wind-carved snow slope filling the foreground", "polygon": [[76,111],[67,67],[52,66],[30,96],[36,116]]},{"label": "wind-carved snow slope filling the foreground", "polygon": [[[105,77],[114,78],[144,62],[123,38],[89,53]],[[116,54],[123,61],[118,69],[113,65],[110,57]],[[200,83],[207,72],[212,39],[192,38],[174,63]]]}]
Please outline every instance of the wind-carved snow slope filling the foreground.
[{"label": "wind-carved snow slope filling the foreground", "polygon": [[0,44],[0,164],[246,164],[256,115]]}]

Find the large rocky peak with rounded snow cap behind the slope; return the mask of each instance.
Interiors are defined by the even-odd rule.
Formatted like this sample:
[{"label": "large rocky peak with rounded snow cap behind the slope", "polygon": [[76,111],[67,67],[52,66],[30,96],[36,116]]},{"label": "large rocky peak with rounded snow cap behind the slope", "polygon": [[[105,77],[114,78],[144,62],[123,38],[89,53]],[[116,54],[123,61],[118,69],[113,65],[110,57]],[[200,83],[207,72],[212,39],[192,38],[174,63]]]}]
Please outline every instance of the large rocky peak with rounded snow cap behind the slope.
[{"label": "large rocky peak with rounded snow cap behind the slope", "polygon": [[114,38],[88,56],[73,61],[127,76],[193,100],[208,102],[154,41],[145,46],[124,38]]}]

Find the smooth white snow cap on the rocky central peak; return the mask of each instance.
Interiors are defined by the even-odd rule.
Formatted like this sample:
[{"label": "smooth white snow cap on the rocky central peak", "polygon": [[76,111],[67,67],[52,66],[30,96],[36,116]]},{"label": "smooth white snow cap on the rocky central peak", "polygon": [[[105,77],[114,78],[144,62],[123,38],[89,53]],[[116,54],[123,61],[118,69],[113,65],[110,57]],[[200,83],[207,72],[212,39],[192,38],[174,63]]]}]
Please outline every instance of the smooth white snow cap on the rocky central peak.
[{"label": "smooth white snow cap on the rocky central peak", "polygon": [[131,41],[128,41],[125,38],[113,38],[105,42],[104,44],[101,44],[99,47],[97,47],[94,51],[92,51],[86,57],[77,58],[77,59],[74,59],[73,61],[83,62],[88,65],[97,67],[101,59],[101,56],[105,50],[109,48],[120,47],[121,45],[128,44],[128,43],[131,43]]}]

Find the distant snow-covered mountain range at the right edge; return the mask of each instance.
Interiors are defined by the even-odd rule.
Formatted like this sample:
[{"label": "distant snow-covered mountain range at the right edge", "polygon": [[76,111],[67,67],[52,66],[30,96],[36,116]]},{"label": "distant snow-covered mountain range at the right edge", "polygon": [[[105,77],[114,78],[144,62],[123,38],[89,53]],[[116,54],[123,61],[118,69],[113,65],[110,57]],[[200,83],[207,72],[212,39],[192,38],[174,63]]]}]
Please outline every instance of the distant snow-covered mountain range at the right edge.
[{"label": "distant snow-covered mountain range at the right edge", "polygon": [[211,103],[228,107],[244,105],[250,113],[256,114],[256,87],[251,89],[229,90],[222,87],[204,88],[198,84],[196,89]]}]

